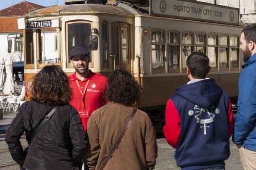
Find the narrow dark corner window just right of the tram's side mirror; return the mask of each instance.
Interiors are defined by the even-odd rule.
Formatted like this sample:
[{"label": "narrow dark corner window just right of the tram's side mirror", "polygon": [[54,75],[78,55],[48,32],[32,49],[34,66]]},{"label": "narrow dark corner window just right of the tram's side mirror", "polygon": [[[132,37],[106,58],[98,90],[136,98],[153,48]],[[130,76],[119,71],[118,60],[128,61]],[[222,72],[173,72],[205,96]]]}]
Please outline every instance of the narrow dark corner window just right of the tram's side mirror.
[{"label": "narrow dark corner window just right of the tram's side mirror", "polygon": [[[106,25],[106,32],[103,33],[103,25]],[[106,36],[106,44],[103,44],[103,36]],[[109,23],[107,21],[101,22],[101,63],[102,68],[110,68],[110,50],[109,50]],[[104,62],[104,58],[107,62]]]}]

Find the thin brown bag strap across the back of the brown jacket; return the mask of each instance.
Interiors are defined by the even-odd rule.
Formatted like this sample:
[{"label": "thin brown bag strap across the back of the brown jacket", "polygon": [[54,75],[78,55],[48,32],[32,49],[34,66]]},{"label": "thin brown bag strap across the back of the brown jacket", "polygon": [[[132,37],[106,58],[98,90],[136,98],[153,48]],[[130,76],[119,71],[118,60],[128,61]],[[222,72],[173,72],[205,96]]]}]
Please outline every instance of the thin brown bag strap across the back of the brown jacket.
[{"label": "thin brown bag strap across the back of the brown jacket", "polygon": [[113,145],[113,147],[110,149],[110,153],[108,154],[108,156],[104,159],[104,161],[101,164],[100,170],[103,170],[104,167],[107,165],[108,161],[110,160],[111,156],[113,155],[113,153],[115,152],[115,150],[117,149],[118,145],[120,144],[123,136],[125,135],[125,132],[127,131],[128,127],[131,124],[131,121],[136,113],[137,109],[133,109],[131,115],[129,116],[129,119],[127,120],[123,130],[121,131],[121,133],[119,134],[119,137],[116,141],[116,143]]}]

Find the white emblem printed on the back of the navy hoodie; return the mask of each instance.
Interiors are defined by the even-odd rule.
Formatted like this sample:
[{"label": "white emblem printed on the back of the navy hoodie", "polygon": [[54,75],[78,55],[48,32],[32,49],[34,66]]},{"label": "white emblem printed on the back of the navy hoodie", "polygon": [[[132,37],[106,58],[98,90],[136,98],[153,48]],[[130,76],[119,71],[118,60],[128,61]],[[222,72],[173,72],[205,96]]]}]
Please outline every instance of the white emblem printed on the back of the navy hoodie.
[{"label": "white emblem printed on the back of the navy hoodie", "polygon": [[[214,117],[215,117],[215,113],[219,114],[219,109],[216,108],[214,106],[211,106],[209,109],[204,109],[201,108],[198,105],[195,105],[193,110],[189,110],[188,114],[189,116],[193,116],[195,114],[195,118],[197,119],[197,123],[203,124],[204,128],[204,135],[207,135],[206,133],[206,127],[210,127],[206,126],[206,124],[213,122]],[[200,128],[201,128],[200,127]]]}]

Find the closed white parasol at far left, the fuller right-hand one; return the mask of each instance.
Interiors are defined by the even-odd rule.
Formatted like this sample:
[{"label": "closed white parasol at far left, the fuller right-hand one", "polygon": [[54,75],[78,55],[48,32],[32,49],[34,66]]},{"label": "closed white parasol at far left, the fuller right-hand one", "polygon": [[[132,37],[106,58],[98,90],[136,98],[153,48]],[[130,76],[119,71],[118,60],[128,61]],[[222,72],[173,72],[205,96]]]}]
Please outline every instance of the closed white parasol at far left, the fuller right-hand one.
[{"label": "closed white parasol at far left, the fuller right-hand one", "polygon": [[12,72],[12,66],[13,62],[11,57],[5,58],[5,70],[6,70],[6,80],[4,84],[4,94],[11,94],[14,93],[14,81],[13,81],[13,72]]}]

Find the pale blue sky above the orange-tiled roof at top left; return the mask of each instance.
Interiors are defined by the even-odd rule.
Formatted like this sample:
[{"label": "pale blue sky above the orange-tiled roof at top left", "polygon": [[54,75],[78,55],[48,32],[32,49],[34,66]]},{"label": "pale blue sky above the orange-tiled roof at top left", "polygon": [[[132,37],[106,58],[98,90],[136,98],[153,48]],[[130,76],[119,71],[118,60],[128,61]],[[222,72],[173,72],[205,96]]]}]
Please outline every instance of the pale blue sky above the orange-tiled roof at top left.
[{"label": "pale blue sky above the orange-tiled roof at top left", "polygon": [[[24,0],[0,0],[0,10],[8,8]],[[31,3],[35,3],[42,6],[64,5],[64,0],[26,0]]]}]

